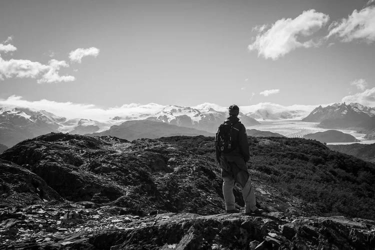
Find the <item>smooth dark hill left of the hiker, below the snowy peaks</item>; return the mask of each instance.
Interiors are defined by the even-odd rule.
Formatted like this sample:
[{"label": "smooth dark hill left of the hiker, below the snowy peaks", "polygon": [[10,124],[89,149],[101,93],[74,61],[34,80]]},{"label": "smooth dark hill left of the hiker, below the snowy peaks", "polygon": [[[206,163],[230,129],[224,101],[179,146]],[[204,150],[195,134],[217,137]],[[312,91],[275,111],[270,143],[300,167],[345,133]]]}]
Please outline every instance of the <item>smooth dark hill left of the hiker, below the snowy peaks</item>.
[{"label": "smooth dark hill left of the hiker, below the snowy peaks", "polygon": [[[217,129],[217,128],[216,128]],[[120,125],[113,125],[108,130],[86,134],[88,136],[110,135],[119,138],[134,140],[136,138],[159,138],[174,135],[205,135],[213,136],[213,133],[197,130],[195,128],[170,125],[166,122],[151,120],[128,120]]]}]

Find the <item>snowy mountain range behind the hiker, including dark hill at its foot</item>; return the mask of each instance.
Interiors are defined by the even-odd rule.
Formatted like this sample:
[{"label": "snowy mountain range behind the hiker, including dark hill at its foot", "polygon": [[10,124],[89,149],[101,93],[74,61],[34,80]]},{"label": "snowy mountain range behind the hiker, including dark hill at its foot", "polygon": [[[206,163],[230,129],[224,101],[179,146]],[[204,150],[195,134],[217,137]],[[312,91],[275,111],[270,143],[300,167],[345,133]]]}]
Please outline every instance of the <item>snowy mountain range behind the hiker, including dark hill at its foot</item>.
[{"label": "snowy mountain range behind the hiker, including dark hill at its foot", "polygon": [[[241,112],[238,116],[245,126],[260,124]],[[170,135],[212,135],[226,117],[227,111],[217,111],[211,107],[198,109],[175,105],[165,106],[154,113],[134,113],[114,116],[106,120],[66,118],[45,110],[0,107],[0,143],[12,146],[22,140],[49,132],[115,134],[127,139]],[[126,122],[128,120],[138,121]],[[138,128],[136,129],[134,125]],[[139,128],[144,130],[141,131]],[[123,134],[119,134],[119,131]]]}]

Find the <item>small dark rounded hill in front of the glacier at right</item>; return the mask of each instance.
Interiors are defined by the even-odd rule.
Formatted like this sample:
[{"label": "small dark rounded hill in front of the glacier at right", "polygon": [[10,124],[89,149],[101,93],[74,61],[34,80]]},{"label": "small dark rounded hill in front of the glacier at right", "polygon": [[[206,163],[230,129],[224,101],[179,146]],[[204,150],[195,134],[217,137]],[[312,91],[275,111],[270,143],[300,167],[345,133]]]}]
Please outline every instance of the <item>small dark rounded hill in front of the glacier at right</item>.
[{"label": "small dark rounded hill in front of the glacier at right", "polygon": [[315,139],[320,142],[358,142],[354,136],[337,130],[326,130],[324,132],[308,133],[303,135],[306,139]]}]

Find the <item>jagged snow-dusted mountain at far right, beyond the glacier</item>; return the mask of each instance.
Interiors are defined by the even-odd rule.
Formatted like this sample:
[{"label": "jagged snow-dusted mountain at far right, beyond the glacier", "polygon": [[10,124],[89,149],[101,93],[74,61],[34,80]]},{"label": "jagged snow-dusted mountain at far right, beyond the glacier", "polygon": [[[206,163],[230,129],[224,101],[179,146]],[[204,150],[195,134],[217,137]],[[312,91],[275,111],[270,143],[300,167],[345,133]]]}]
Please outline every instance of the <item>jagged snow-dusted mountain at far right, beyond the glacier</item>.
[{"label": "jagged snow-dusted mountain at far right, beyond the glacier", "polygon": [[326,107],[320,105],[302,121],[320,122],[319,126],[324,128],[354,128],[373,116],[373,110],[359,103],[334,103]]}]

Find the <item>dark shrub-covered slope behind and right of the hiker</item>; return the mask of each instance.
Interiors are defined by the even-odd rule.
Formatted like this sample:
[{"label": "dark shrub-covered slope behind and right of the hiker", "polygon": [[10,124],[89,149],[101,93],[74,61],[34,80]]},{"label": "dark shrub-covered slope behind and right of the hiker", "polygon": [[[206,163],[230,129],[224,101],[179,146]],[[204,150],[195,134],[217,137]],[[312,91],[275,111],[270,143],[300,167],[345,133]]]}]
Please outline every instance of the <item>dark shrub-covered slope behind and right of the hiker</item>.
[{"label": "dark shrub-covered slope behind and right of the hiker", "polygon": [[[177,143],[215,161],[213,137],[174,136]],[[375,165],[302,138],[248,137],[251,177],[317,206],[324,215],[375,219]]]}]

